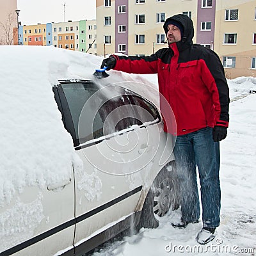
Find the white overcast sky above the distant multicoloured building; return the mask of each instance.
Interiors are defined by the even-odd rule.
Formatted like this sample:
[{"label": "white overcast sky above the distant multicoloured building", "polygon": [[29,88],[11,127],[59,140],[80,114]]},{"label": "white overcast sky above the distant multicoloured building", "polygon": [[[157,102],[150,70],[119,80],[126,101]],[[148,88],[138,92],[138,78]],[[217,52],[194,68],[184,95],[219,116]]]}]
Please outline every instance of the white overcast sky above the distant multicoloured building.
[{"label": "white overcast sky above the distant multicoloured building", "polygon": [[17,0],[22,25],[96,19],[95,0]]}]

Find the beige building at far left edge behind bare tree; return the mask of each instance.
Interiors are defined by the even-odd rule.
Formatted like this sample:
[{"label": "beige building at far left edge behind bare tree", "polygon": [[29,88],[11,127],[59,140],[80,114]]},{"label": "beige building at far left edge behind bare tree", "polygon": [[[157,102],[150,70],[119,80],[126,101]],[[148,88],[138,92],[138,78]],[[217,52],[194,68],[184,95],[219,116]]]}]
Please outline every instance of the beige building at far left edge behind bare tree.
[{"label": "beige building at far left edge behind bare tree", "polygon": [[18,44],[17,0],[0,0],[0,45]]}]

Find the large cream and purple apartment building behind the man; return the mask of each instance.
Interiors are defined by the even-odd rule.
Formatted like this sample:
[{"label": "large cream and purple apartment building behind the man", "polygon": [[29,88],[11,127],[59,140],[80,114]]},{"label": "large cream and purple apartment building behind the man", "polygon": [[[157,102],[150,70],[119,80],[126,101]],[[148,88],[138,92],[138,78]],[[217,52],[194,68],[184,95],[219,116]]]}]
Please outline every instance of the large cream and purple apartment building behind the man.
[{"label": "large cream and purple apartment building behind the man", "polygon": [[217,52],[228,78],[255,76],[255,8],[255,0],[96,0],[97,55],[168,47],[164,20],[184,13],[194,23],[193,42]]}]

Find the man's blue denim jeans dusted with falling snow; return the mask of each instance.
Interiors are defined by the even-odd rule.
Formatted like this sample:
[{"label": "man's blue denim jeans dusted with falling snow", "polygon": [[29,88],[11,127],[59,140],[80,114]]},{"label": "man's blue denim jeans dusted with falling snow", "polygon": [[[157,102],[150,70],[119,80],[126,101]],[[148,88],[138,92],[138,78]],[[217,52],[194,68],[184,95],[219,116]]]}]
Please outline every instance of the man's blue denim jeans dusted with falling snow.
[{"label": "man's blue denim jeans dusted with falling snow", "polygon": [[206,127],[177,136],[174,156],[180,185],[182,218],[193,222],[200,217],[197,166],[204,227],[218,227],[220,225],[220,143],[213,141],[212,128]]}]

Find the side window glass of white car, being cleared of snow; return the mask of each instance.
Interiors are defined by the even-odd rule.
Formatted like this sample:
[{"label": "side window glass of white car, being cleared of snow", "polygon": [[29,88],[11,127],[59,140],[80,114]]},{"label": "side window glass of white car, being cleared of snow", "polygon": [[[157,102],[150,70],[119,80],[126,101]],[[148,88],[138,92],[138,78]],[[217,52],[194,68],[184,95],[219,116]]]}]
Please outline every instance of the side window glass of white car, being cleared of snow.
[{"label": "side window glass of white car, being cleared of snow", "polygon": [[159,120],[157,109],[150,102],[118,86],[99,90],[94,83],[81,82],[63,83],[61,88],[74,124],[76,141],[79,141],[77,144],[103,140],[104,136],[132,125]]}]

